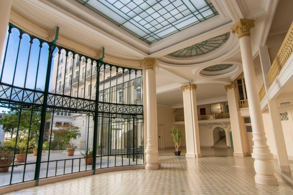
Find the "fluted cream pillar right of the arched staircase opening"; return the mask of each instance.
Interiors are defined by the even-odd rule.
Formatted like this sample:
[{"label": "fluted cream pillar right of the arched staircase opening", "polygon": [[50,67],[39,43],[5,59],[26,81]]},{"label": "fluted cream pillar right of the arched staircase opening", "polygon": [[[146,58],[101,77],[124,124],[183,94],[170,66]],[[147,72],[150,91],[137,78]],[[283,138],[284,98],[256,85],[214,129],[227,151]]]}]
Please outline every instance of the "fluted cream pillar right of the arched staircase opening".
[{"label": "fluted cream pillar right of the arched staircase opening", "polygon": [[247,156],[247,142],[241,131],[240,116],[238,113],[238,98],[235,92],[235,84],[225,85],[227,92],[231,132],[233,139],[234,153],[233,156]]}]

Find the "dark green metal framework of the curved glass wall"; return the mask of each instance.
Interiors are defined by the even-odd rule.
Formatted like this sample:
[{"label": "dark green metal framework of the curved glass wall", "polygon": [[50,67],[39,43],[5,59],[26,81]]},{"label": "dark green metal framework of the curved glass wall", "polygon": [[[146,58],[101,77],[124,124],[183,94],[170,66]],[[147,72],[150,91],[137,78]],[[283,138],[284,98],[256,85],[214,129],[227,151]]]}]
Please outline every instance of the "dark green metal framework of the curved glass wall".
[{"label": "dark green metal framework of the curved glass wall", "polygon": [[[5,165],[5,166],[1,166],[0,168],[11,168],[11,176],[10,176],[10,182],[7,185],[11,185],[11,184],[16,184],[14,182],[12,182],[12,177],[13,177],[13,168],[17,167],[17,166],[24,166],[24,170],[23,170],[23,179],[20,182],[17,183],[21,183],[21,182],[26,182],[26,181],[31,181],[31,180],[35,180],[36,181],[36,185],[39,184],[39,180],[40,178],[40,171],[42,168],[46,168],[46,176],[42,177],[42,178],[47,178],[47,177],[54,177],[57,176],[57,166],[58,163],[60,165],[60,162],[62,164],[62,166],[64,165],[64,172],[63,174],[59,174],[59,175],[66,175],[66,174],[71,174],[74,172],[82,172],[82,171],[87,171],[87,170],[93,170],[93,174],[95,174],[95,170],[98,168],[108,168],[108,167],[113,167],[113,166],[109,166],[109,157],[113,157],[115,158],[115,164],[114,167],[117,166],[131,166],[131,165],[137,165],[138,164],[138,159],[142,159],[142,165],[144,164],[144,146],[143,146],[143,141],[144,140],[144,133],[143,133],[143,105],[142,105],[142,99],[140,101],[137,101],[137,99],[135,99],[135,101],[130,101],[130,97],[132,94],[131,93],[131,89],[130,88],[125,88],[125,85],[129,85],[132,88],[137,88],[137,87],[143,87],[143,83],[142,83],[142,70],[141,69],[135,69],[135,68],[125,68],[125,67],[121,67],[121,66],[117,66],[117,65],[112,65],[112,64],[108,64],[108,63],[104,63],[102,60],[103,58],[100,59],[93,59],[90,58],[88,56],[76,53],[70,49],[64,48],[62,46],[58,46],[56,44],[56,41],[58,39],[58,30],[59,28],[57,27],[57,32],[56,32],[56,37],[52,42],[47,42],[43,39],[40,39],[38,37],[35,37],[27,32],[24,32],[21,28],[9,23],[8,24],[8,36],[7,36],[7,42],[6,42],[6,48],[4,51],[4,60],[2,63],[2,68],[1,68],[1,76],[0,76],[0,107],[2,108],[9,108],[14,110],[17,114],[18,114],[18,127],[17,127],[17,132],[16,132],[16,141],[15,141],[15,146],[14,146],[14,152],[13,152],[13,161],[11,163],[11,165]],[[19,33],[19,41],[18,41],[18,46],[16,48],[16,61],[13,65],[9,64],[8,58],[8,50],[11,48],[8,47],[9,45],[9,41],[10,41],[10,36],[12,34],[12,31],[15,32],[17,31]],[[15,36],[15,34],[13,35]],[[25,75],[25,82],[30,79],[27,77],[28,75],[28,69],[30,66],[30,55],[31,52],[33,52],[33,50],[31,50],[33,42],[35,42],[35,40],[38,40],[38,42],[40,42],[39,45],[39,51],[38,54],[35,54],[36,56],[38,56],[38,61],[37,63],[35,63],[35,65],[37,66],[37,71],[36,71],[36,78],[35,78],[35,86],[33,88],[28,88],[26,87],[26,84],[24,83],[23,87],[20,86],[16,86],[14,84],[14,80],[16,77],[16,69],[18,66],[18,55],[20,53],[20,47],[22,44],[22,40],[23,40],[23,36],[29,36],[30,37],[30,41],[27,43],[29,44],[29,51],[28,51],[28,56],[27,56],[27,63],[26,63],[26,69],[22,70],[24,75]],[[44,81],[45,81],[45,88],[44,90],[38,89],[36,87],[37,84],[37,77],[38,77],[38,69],[39,69],[39,64],[40,64],[40,53],[41,53],[41,49],[44,47],[44,44],[46,44],[48,46],[48,58],[45,59],[45,62],[47,62],[47,67],[46,67],[46,75],[45,77],[43,77]],[[60,88],[60,90],[56,90],[57,89],[57,79],[64,79],[65,82],[65,74],[67,74],[66,72],[62,73],[63,76],[62,77],[58,77],[58,73],[56,73],[56,75],[54,75],[51,71],[51,68],[54,66],[53,63],[53,52],[57,50],[58,53],[58,58],[57,58],[57,70],[59,68],[59,65],[62,64],[63,66],[65,66],[65,70],[66,68],[68,68],[67,66],[69,66],[69,68],[74,65],[76,62],[78,62],[79,64],[81,64],[81,61],[83,58],[86,59],[86,62],[89,63],[89,69],[90,69],[90,73],[88,73],[88,70],[85,70],[85,73],[88,73],[87,75],[84,75],[84,77],[82,79],[86,79],[87,76],[90,75],[90,84],[92,84],[92,76],[93,74],[96,74],[96,94],[91,94],[90,92],[90,96],[89,98],[85,98],[85,90],[83,91],[84,94],[82,94],[82,97],[79,97],[78,95],[76,97],[74,97],[71,94],[70,90],[70,94],[69,95],[65,95],[64,94],[64,85],[63,87]],[[46,50],[45,50],[46,51]],[[61,51],[65,51],[65,59],[67,59],[67,56],[69,56],[69,54],[72,54],[74,56],[72,64],[67,65],[67,60],[62,61],[60,60],[60,54]],[[104,49],[103,49],[103,54],[104,54]],[[8,56],[8,57],[7,57]],[[44,59],[42,59],[44,60]],[[6,63],[6,61],[8,61]],[[76,67],[79,68],[79,72],[81,72],[80,67]],[[7,68],[9,70],[13,69],[13,78],[12,78],[12,83],[7,83],[7,82],[3,82],[3,75],[5,74]],[[94,69],[95,68],[95,69]],[[106,80],[105,79],[105,71],[106,69],[110,70],[110,80]],[[122,71],[121,74],[118,75],[118,70]],[[112,72],[116,72],[116,75],[112,75]],[[104,78],[100,78],[100,75],[104,75]],[[116,81],[116,83],[111,83],[111,81],[113,80]],[[127,78],[131,78],[127,80]],[[118,78],[123,80],[123,86],[122,86],[122,90],[124,90],[124,94],[127,94],[127,98],[129,98],[129,100],[126,101],[126,95],[123,98],[123,102],[121,103],[117,103],[114,102],[112,100],[109,101],[104,101],[104,99],[100,99],[99,97],[99,92],[105,90],[105,82],[109,82],[110,81],[110,88],[111,88],[111,84],[112,84],[112,88],[116,87],[118,84]],[[54,90],[52,90],[50,92],[49,90],[49,86],[50,86],[50,79],[56,79],[56,84],[54,87]],[[72,80],[73,80],[73,76],[71,76],[71,84],[69,85],[72,88]],[[79,84],[80,80],[78,80],[78,88],[80,87]],[[60,86],[59,86],[60,87]],[[84,89],[86,87],[86,82],[84,82]],[[79,90],[78,90],[79,91]],[[135,91],[133,90],[134,93],[134,97],[136,97],[135,95]],[[142,91],[141,91],[142,93]],[[94,98],[92,99],[92,95],[94,95]],[[111,95],[111,93],[110,93]],[[113,96],[113,93],[112,93]],[[142,97],[141,97],[142,98]],[[30,131],[31,131],[31,126],[29,126],[28,128],[28,138],[27,138],[27,144],[26,144],[26,153],[25,153],[25,162],[24,163],[15,163],[16,161],[16,148],[18,145],[18,132],[19,132],[19,125],[21,122],[21,116],[22,116],[22,112],[28,111],[30,112],[30,123],[32,122],[32,117],[33,117],[33,113],[38,113],[40,115],[40,129],[38,131],[39,135],[38,135],[38,150],[37,150],[37,157],[36,157],[36,161],[35,162],[27,162],[27,157],[28,157],[28,147],[29,147],[29,138],[30,138]],[[85,157],[78,157],[78,158],[66,158],[66,159],[58,159],[58,160],[50,160],[50,148],[51,148],[51,141],[52,141],[52,125],[53,125],[53,119],[54,119],[54,113],[57,112],[68,112],[68,113],[82,113],[82,114],[86,114],[88,116],[88,118],[92,117],[93,118],[93,157],[91,157],[88,152],[86,152],[86,156]],[[50,124],[51,126],[51,130],[50,130],[50,143],[49,143],[49,154],[47,157],[47,160],[41,159],[42,157],[42,145],[43,145],[43,141],[44,141],[44,135],[45,135],[45,125],[47,123],[47,119],[46,119],[46,115],[47,113],[51,113],[52,117],[50,119],[50,121],[52,121],[52,123]],[[89,134],[89,121],[88,120],[88,129],[87,129],[87,137]],[[115,122],[116,121],[116,122]],[[117,129],[117,123],[118,122],[123,122],[124,125],[127,127],[127,138],[124,137],[124,139],[127,139],[127,146],[126,150],[120,150],[120,151],[113,151],[111,148],[109,148],[109,146],[111,146],[111,139],[110,136],[112,132],[115,132],[115,130]],[[116,125],[116,129],[112,127],[114,127]],[[140,138],[141,140],[135,140],[138,139],[138,127],[140,127]],[[102,129],[102,134],[107,133],[108,135],[104,136],[106,139],[106,143],[108,145],[107,150],[104,150],[103,145],[99,146],[98,144],[98,129],[101,128]],[[105,129],[103,131],[103,128]],[[132,128],[132,129],[131,129]],[[111,131],[110,131],[111,130]],[[49,136],[49,135],[48,135]],[[125,134],[126,136],[126,134]],[[103,136],[102,136],[103,137]],[[111,137],[112,138],[112,137]],[[88,142],[88,138],[86,139]],[[102,142],[103,144],[103,142]],[[88,151],[89,149],[89,144],[87,143],[86,146],[86,151]],[[1,152],[1,151],[0,151]],[[122,156],[122,164],[120,165],[119,163],[116,162],[117,157]],[[102,158],[108,158],[108,164],[107,166],[102,166]],[[123,164],[123,158],[126,157],[129,159],[129,163],[127,164]],[[92,165],[90,166],[90,168],[88,168],[87,166],[87,161],[88,159],[92,158]],[[81,161],[82,159],[85,159],[85,170],[81,170]],[[132,161],[130,162],[130,159],[132,159]],[[96,164],[96,162],[100,160],[100,166],[97,166],[98,164]],[[78,162],[79,161],[79,170],[78,171],[74,171],[74,161]],[[64,163],[63,163],[64,162]],[[49,163],[51,164],[55,164],[55,174],[53,175],[48,175],[48,170],[49,170]],[[98,163],[98,162],[97,162]],[[34,173],[34,178],[31,180],[26,180],[25,179],[25,174],[27,174],[25,172],[25,167],[27,165],[34,165],[35,166],[35,173]],[[66,172],[66,166],[71,166],[71,171]],[[59,166],[60,167],[60,166]],[[4,185],[6,186],[6,185]],[[2,187],[2,186],[1,186]]]}]

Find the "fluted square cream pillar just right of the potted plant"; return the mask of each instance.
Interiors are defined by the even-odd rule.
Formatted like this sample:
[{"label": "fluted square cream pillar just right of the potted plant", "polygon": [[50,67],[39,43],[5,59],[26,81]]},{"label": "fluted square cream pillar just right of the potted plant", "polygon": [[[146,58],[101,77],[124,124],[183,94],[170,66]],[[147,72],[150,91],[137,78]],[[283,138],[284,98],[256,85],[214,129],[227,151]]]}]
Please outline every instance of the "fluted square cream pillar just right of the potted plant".
[{"label": "fluted square cream pillar just right of the potted plant", "polygon": [[183,92],[184,123],[186,136],[186,157],[200,158],[200,133],[196,106],[196,84],[181,87]]}]

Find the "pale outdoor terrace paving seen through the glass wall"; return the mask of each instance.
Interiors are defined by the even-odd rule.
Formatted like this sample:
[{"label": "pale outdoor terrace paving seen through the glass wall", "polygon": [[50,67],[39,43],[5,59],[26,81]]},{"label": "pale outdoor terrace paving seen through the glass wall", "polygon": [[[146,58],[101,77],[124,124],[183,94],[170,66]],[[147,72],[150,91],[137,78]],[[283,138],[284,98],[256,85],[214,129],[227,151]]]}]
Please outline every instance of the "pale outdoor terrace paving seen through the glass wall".
[{"label": "pale outdoor terrace paving seen through the glass wall", "polygon": [[[51,153],[50,154],[50,161],[49,165],[47,162],[41,163],[41,169],[40,169],[40,178],[52,177],[55,175],[63,175],[71,172],[79,172],[79,171],[85,171],[85,170],[91,170],[92,165],[85,165],[83,156],[80,155],[81,150],[76,150],[74,153],[74,156],[67,156],[67,152],[62,153]],[[33,154],[28,154],[27,157],[27,163],[35,163],[37,156],[33,156]],[[73,160],[72,160],[73,159]],[[48,160],[48,153],[42,154],[42,161]],[[57,166],[56,166],[56,160],[58,160]],[[136,160],[136,159],[135,159]],[[65,166],[64,166],[65,163]],[[108,157],[104,156],[102,159],[100,157],[96,158],[96,168],[106,168],[106,167],[113,167],[115,166],[121,166],[122,165],[122,158],[117,157],[115,160],[115,157],[110,156]],[[137,159],[136,161],[132,161],[132,159],[123,157],[123,165],[135,165],[137,164],[143,164],[143,161],[140,159]],[[18,163],[19,166],[15,166],[13,168],[13,174],[12,174],[12,184],[16,184],[19,182],[24,181],[30,181],[33,180],[35,177],[35,164],[28,164],[24,166],[24,163]],[[57,168],[56,168],[57,167]],[[47,173],[48,168],[48,173]],[[11,177],[11,168],[9,168],[8,172],[0,172],[0,187],[6,186],[10,183],[10,177]],[[23,177],[23,172],[25,170],[25,174]],[[0,192],[1,193],[1,192]]]}]

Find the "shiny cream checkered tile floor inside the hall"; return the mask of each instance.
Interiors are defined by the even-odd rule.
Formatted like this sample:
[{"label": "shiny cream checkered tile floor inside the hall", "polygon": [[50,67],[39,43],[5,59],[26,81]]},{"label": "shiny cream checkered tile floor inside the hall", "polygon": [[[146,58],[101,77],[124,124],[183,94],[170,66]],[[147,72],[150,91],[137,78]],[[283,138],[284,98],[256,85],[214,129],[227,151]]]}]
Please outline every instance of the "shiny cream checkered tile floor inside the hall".
[{"label": "shiny cream checkered tile floor inside the hall", "polygon": [[[203,157],[193,159],[185,158],[182,150],[179,157],[173,149],[159,150],[159,170],[108,172],[10,194],[293,194],[291,174],[278,170],[278,186],[255,184],[250,156],[233,157],[231,149],[202,148]],[[274,164],[277,169],[276,160]],[[293,170],[292,161],[290,165]]]}]

